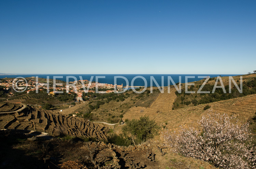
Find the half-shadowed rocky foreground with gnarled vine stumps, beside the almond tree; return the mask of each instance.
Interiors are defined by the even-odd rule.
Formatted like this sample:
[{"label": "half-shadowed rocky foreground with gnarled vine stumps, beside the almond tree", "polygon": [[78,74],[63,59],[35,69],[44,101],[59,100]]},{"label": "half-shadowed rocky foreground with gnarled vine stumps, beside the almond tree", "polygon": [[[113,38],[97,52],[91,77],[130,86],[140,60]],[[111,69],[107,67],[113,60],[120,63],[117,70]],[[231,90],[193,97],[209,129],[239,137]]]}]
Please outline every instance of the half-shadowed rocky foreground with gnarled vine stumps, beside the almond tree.
[{"label": "half-shadowed rocky foreground with gnarled vine stumps, beside the almond tree", "polygon": [[[31,166],[35,166],[34,168],[37,168],[38,164],[43,166],[41,168],[56,168],[54,166],[59,166],[60,168],[90,169],[166,169],[169,167],[176,169],[198,169],[199,167],[205,169],[215,168],[208,163],[201,162],[194,158],[189,159],[172,154],[159,142],[145,142],[141,145],[125,147],[110,143],[106,144],[103,141],[85,142],[71,139],[61,140],[59,138],[37,140],[26,132],[17,132],[17,130],[0,130],[0,136],[6,141],[13,138],[27,138],[27,141],[22,141],[21,144],[18,144],[26,150],[24,153],[15,151],[15,154],[8,153],[1,158],[3,163],[10,164],[5,168],[17,168],[18,166],[24,165],[24,161]],[[52,148],[53,145],[54,148]],[[17,147],[11,147],[11,149],[15,150]],[[35,149],[40,149],[41,151],[38,153],[30,153],[31,155],[28,158],[28,152],[35,152]],[[21,160],[16,159],[20,159],[24,156],[26,158],[22,158],[22,162]],[[78,164],[84,164],[86,167],[75,166],[73,165],[75,163],[74,161]],[[66,164],[66,167],[63,167],[64,164]]]}]

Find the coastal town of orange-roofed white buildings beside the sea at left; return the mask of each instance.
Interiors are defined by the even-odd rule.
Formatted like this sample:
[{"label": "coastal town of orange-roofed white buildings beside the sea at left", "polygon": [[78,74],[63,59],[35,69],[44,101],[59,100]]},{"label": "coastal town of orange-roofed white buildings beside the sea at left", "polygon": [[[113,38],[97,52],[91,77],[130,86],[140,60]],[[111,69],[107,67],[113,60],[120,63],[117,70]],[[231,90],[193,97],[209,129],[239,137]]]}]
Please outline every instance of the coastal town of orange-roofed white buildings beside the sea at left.
[{"label": "coastal town of orange-roofed white buildings beside the sea at left", "polygon": [[[35,77],[31,77],[28,80],[24,79],[1,79],[0,87],[2,90],[6,91],[6,97],[14,96],[15,90],[23,91],[22,93],[29,93],[31,91],[42,91],[43,89],[49,89],[48,95],[55,95],[56,93],[60,93],[63,91],[68,91],[68,94],[76,94],[78,101],[83,101],[84,93],[95,93],[96,88],[98,89],[99,94],[111,93],[114,91],[123,90],[123,84],[107,84],[107,83],[98,83],[98,82],[90,82],[89,80],[78,80],[77,82],[69,82],[67,84],[59,84],[53,85],[53,83],[42,83],[35,79]],[[13,90],[15,89],[15,90]],[[85,96],[89,97],[89,96]]]}]

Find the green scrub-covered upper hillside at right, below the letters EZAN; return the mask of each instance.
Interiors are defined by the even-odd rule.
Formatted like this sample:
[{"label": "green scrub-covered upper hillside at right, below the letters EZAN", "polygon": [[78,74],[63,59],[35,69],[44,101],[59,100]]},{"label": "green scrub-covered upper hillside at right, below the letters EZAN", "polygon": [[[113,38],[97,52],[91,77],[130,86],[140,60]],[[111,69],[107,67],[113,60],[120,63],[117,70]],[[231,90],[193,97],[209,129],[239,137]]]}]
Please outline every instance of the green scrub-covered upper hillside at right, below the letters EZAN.
[{"label": "green scrub-covered upper hillside at right, below the letters EZAN", "polygon": [[[222,88],[216,88],[215,92],[213,92],[214,84],[216,81],[216,78],[210,78],[201,91],[210,91],[209,94],[200,94],[197,93],[199,91],[199,88],[204,83],[205,80],[200,80],[197,82],[191,82],[194,83],[193,86],[188,86],[188,91],[195,91],[194,94],[185,93],[185,84],[182,84],[182,93],[179,94],[176,92],[177,99],[174,103],[174,109],[177,108],[183,108],[186,106],[195,106],[198,104],[206,104],[221,100],[228,100],[233,99],[237,97],[243,97],[250,94],[256,94],[256,74],[246,74],[241,75],[242,76],[242,84],[243,84],[243,93],[240,94],[238,89],[234,86],[233,82],[231,82],[231,93],[229,93],[229,77],[221,77],[221,80],[223,82],[223,85],[225,86],[226,94],[223,92]],[[240,75],[233,77],[235,83],[237,83],[238,86],[240,86]],[[218,81],[217,86],[221,86],[220,81]]]}]

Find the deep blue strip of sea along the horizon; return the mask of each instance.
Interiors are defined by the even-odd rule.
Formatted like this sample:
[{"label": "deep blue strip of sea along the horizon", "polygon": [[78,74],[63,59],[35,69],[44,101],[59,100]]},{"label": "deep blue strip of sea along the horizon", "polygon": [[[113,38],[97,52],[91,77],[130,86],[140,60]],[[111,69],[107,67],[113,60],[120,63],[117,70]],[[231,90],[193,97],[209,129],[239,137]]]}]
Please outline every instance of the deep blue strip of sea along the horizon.
[{"label": "deep blue strip of sea along the horizon", "polygon": [[[114,77],[116,76],[122,76],[122,78],[117,78],[117,85],[123,84],[125,87],[126,85],[129,86],[145,86],[145,82],[147,86],[150,86],[150,77],[152,76],[159,86],[168,86],[168,76],[170,76],[175,83],[179,82],[179,77],[181,77],[181,83],[185,83],[185,77],[189,76],[188,82],[194,82],[202,80],[203,78],[198,78],[199,76],[210,78],[217,77],[217,76],[236,76],[239,74],[22,74],[22,75],[0,75],[0,79],[2,78],[17,78],[17,77],[36,77],[39,78],[47,78],[49,76],[50,79],[53,79],[53,77],[57,77],[57,80],[62,80],[66,82],[66,78],[69,76],[77,78],[77,80],[89,80],[91,77],[93,77],[92,81],[96,81],[96,76],[101,77],[98,78],[99,83],[108,83],[108,84],[114,84]],[[139,76],[139,77],[138,77]],[[82,77],[80,79],[80,77]],[[137,77],[137,78],[136,78]],[[144,79],[143,79],[143,78]],[[163,85],[162,85],[162,77],[163,77]],[[127,79],[127,82],[125,81]],[[75,81],[76,79],[69,78],[69,82]],[[132,84],[133,81],[133,84]],[[170,82],[172,85],[172,82]],[[152,81],[152,86],[157,86],[154,81]]]}]

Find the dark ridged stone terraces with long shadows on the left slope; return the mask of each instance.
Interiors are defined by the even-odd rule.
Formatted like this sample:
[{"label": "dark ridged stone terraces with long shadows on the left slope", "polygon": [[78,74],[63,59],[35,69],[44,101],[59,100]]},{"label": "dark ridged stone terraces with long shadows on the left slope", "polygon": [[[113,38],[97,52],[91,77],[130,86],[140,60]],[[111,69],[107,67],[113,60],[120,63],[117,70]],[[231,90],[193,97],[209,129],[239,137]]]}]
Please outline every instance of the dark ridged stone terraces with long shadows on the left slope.
[{"label": "dark ridged stone terraces with long shadows on the left slope", "polygon": [[34,130],[53,136],[96,137],[106,140],[104,126],[83,118],[54,114],[50,111],[30,108],[14,115],[0,116],[0,129]]}]

